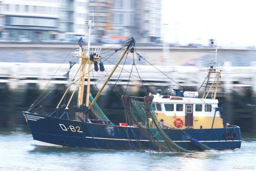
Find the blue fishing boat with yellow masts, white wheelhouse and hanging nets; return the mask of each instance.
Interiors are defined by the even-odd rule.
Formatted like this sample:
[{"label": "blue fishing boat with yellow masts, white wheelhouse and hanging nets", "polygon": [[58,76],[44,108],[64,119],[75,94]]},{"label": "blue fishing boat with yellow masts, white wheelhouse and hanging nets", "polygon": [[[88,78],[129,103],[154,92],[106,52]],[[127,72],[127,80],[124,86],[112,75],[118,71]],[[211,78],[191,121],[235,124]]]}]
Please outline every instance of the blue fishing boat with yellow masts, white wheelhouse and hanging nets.
[{"label": "blue fishing boat with yellow masts, white wheelhouse and hanging nets", "polygon": [[[100,71],[104,71],[104,66],[101,62],[103,59],[100,56],[101,48],[90,48],[93,21],[86,22],[86,25],[88,26],[87,44],[80,38],[79,50],[74,56],[79,59],[79,67],[75,74],[79,75],[79,79],[75,80],[75,77],[71,79],[52,113],[32,110],[36,108],[38,104],[36,101],[41,96],[26,112],[22,112],[35,145],[96,149],[153,149],[166,152],[240,148],[242,142],[240,127],[227,123],[223,110],[218,107],[218,100],[215,99],[223,66],[223,63],[216,63],[216,60],[209,63],[205,84],[200,87],[204,88],[202,98],[199,98],[198,92],[175,88],[172,91],[168,89],[166,94],[158,89],[155,94],[146,92],[144,97],[136,97],[128,94],[126,87],[124,94],[120,95],[120,100],[124,104],[126,122],[114,125],[101,111],[96,100],[119,63],[122,59],[126,59],[125,56],[132,54],[132,67],[136,70],[134,56],[139,60],[144,58],[136,51],[133,38],[128,40],[122,48],[116,49],[115,51],[124,49],[122,56],[93,98],[90,93],[91,71],[98,71],[99,68]],[[98,64],[97,61],[100,63]],[[70,68],[73,65],[74,63],[70,63]],[[141,78],[140,80],[143,81]],[[74,91],[67,105],[62,104],[71,85],[75,86]],[[73,108],[70,102],[77,88],[76,112],[70,113],[70,108]]]}]

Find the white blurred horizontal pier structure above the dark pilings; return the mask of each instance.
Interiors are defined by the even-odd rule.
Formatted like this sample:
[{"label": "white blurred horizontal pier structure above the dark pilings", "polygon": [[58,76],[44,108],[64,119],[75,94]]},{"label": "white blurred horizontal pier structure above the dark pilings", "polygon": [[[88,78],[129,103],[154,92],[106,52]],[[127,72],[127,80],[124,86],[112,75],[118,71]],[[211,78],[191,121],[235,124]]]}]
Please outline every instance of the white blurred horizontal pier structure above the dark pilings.
[{"label": "white blurred horizontal pier structure above the dark pilings", "polygon": [[[130,84],[133,88],[136,85],[142,85],[140,78],[144,80],[143,85],[165,86],[171,88],[186,87],[190,91],[196,91],[204,82],[207,76],[207,68],[203,67],[203,62],[198,61],[196,66],[176,66],[171,63],[168,66],[149,66],[136,65],[139,75],[136,70],[133,70]],[[55,87],[57,84],[68,86],[73,78],[74,70],[78,68],[75,64],[69,71],[69,64],[60,63],[0,63],[0,83],[8,86],[10,89],[26,89],[29,83],[36,84],[39,89],[47,89]],[[104,81],[100,81],[114,65],[104,65],[105,72],[93,72],[91,84],[98,86]],[[111,84],[118,82],[118,85],[127,85],[130,76],[131,65],[117,68],[111,78]],[[122,71],[123,68],[123,71]],[[69,79],[65,75],[69,71]],[[163,73],[161,73],[161,72]],[[251,66],[235,67],[232,62],[226,61],[223,66],[223,71],[220,78],[220,88],[218,92],[240,91],[241,88],[250,87],[253,94],[256,94],[256,62],[251,62]],[[85,76],[86,77],[86,76]],[[75,77],[75,80],[78,76]],[[118,79],[118,81],[117,81]],[[87,82],[86,82],[87,83]],[[85,83],[85,84],[86,84]],[[107,86],[106,89],[111,86]],[[72,90],[74,87],[70,87]]]}]

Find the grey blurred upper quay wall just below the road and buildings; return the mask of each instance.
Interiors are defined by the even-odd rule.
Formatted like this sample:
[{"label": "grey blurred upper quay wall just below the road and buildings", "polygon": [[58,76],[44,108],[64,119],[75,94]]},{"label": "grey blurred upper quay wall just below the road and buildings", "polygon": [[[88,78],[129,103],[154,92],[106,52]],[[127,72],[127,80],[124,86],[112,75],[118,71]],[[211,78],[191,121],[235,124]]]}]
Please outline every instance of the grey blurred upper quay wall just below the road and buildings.
[{"label": "grey blurred upper quay wall just below the road and buildings", "polygon": [[[0,43],[0,62],[24,62],[24,63],[62,63],[65,58],[74,60],[73,52],[79,48],[74,44],[1,44]],[[113,46],[113,47],[112,47]],[[109,55],[108,51],[115,50],[121,45],[92,44],[92,47],[101,47],[102,56]],[[121,50],[120,50],[121,51]],[[207,65],[210,59],[215,59],[214,48],[172,48],[159,45],[136,46],[136,52],[144,57],[153,65],[177,66],[191,65],[194,62],[204,61]],[[111,52],[112,53],[112,52]],[[122,53],[116,53],[109,58],[115,63]],[[218,49],[217,62],[232,61],[233,66],[250,66],[251,61],[256,61],[256,50],[252,49]],[[150,65],[141,60],[136,64]],[[132,63],[130,60],[129,63]]]}]

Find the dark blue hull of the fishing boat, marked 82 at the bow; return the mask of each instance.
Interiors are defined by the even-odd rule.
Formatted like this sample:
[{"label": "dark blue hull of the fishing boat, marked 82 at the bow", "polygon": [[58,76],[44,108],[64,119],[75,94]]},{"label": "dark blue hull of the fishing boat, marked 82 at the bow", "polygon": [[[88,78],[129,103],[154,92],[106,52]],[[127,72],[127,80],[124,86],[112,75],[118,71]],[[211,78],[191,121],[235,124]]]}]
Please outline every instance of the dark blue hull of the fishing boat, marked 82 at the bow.
[{"label": "dark blue hull of the fishing boat, marked 82 at the bow", "polygon": [[[23,112],[36,145],[99,149],[158,149],[139,128],[101,125]],[[241,146],[240,127],[219,129],[168,129],[166,134],[188,150],[199,150],[191,137],[216,150]],[[234,132],[232,134],[232,132]],[[233,138],[224,138],[228,132]],[[190,137],[188,137],[188,135]],[[138,139],[140,141],[138,141]]]}]

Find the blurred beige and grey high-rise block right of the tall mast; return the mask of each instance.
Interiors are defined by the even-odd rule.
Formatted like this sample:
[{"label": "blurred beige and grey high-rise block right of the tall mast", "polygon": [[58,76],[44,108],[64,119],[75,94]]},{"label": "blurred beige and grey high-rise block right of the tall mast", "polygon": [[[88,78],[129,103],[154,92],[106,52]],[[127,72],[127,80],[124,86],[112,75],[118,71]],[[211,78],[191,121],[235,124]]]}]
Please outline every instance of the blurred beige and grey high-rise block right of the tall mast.
[{"label": "blurred beige and grey high-rise block right of the tall mast", "polygon": [[133,36],[155,42],[161,37],[161,0],[89,0],[88,6],[90,20],[93,15],[95,20],[92,33],[98,38]]}]

